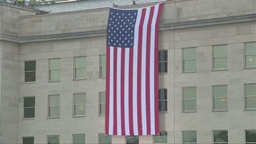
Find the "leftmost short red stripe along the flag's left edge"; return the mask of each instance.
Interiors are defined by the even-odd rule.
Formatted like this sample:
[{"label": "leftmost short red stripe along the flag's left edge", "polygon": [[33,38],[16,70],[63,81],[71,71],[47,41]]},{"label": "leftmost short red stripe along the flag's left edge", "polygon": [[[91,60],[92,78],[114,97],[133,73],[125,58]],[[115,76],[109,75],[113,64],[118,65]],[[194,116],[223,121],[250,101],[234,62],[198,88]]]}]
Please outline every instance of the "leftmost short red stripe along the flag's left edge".
[{"label": "leftmost short red stripe along the flag's left edge", "polygon": [[106,47],[106,69],[105,69],[105,134],[109,134],[109,69],[110,48]]}]

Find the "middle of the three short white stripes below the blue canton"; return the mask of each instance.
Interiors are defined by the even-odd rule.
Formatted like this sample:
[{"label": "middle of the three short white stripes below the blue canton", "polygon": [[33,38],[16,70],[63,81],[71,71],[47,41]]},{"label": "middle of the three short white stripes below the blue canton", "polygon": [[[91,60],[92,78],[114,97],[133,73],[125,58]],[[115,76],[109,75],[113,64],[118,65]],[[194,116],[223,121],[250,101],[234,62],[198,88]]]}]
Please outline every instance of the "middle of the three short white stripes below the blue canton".
[{"label": "middle of the three short white stripes below the blue canton", "polygon": [[116,118],[117,118],[117,135],[122,135],[121,125],[121,51],[122,48],[117,49],[117,65],[116,65]]}]

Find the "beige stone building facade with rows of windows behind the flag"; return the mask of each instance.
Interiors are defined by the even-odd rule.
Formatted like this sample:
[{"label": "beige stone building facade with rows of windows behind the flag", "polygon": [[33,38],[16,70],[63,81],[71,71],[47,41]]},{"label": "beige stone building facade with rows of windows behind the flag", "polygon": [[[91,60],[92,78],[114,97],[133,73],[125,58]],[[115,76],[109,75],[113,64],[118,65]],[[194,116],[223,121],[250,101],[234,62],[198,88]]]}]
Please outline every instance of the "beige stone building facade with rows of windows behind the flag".
[{"label": "beige stone building facade with rows of windows behind the flag", "polygon": [[0,14],[1,144],[256,143],[256,1],[165,2],[160,135],[127,138],[104,135],[108,8]]}]

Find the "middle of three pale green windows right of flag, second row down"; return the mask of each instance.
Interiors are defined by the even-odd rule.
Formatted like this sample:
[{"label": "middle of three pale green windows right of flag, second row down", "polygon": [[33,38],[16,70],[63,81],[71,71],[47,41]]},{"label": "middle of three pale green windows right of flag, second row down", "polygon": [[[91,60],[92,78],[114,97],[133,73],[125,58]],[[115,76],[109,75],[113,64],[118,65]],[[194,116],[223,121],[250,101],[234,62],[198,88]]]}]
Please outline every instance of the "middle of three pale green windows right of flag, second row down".
[{"label": "middle of three pale green windows right of flag, second row down", "polygon": [[227,110],[227,85],[213,86],[213,109],[214,111]]}]

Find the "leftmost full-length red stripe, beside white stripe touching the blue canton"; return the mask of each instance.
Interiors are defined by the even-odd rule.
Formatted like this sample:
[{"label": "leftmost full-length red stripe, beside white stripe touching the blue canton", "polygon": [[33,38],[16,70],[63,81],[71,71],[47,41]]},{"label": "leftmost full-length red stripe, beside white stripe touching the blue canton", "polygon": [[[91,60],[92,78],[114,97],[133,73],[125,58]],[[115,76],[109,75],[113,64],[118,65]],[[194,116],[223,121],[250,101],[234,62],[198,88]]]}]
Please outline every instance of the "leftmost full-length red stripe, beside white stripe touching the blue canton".
[{"label": "leftmost full-length red stripe, beside white stripe touching the blue canton", "polygon": [[139,28],[139,40],[138,40],[138,67],[137,67],[137,106],[138,106],[138,131],[139,135],[142,135],[142,28],[145,19],[146,9],[142,10],[142,18]]}]

